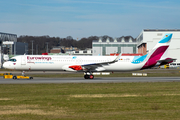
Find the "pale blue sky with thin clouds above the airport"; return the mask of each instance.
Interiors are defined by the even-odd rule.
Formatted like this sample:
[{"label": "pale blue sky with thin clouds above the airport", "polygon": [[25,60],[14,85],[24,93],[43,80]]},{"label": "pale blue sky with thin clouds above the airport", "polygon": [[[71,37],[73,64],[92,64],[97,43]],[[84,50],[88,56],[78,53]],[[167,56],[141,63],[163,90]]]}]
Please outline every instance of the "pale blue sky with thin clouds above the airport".
[{"label": "pale blue sky with thin clouds above the airport", "polygon": [[81,39],[180,29],[180,0],[1,0],[0,32]]}]

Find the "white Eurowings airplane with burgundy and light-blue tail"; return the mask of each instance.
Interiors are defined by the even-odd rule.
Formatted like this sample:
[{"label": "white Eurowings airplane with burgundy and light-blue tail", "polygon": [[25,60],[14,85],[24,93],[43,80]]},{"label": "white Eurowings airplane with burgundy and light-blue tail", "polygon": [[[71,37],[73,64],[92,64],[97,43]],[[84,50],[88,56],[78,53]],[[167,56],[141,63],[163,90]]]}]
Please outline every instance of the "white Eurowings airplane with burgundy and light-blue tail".
[{"label": "white Eurowings airplane with burgundy and light-blue tail", "polygon": [[171,38],[171,33],[165,34],[144,56],[19,55],[4,62],[3,67],[23,72],[28,70],[84,72],[85,79],[94,79],[93,72],[143,70],[173,62],[175,59],[166,57]]}]

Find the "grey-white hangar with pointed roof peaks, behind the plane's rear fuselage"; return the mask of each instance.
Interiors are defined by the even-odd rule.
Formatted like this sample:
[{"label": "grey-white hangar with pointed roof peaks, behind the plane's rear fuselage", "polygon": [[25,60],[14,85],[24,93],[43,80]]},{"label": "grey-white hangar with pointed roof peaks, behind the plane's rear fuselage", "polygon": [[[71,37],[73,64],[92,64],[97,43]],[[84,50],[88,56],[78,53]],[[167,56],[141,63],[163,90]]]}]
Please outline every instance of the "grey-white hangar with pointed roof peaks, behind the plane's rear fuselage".
[{"label": "grey-white hangar with pointed roof peaks, behind the plane's rear fuselage", "polygon": [[111,53],[137,53],[137,42],[131,36],[121,37],[118,39],[93,40],[93,56],[110,55]]}]

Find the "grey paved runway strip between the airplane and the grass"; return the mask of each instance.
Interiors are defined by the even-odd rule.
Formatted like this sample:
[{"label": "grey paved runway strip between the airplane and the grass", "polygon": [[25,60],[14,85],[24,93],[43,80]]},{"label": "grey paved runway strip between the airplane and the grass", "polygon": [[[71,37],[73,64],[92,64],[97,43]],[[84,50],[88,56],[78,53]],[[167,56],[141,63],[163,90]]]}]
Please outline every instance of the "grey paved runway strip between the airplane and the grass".
[{"label": "grey paved runway strip between the airplane and the grass", "polygon": [[39,78],[32,80],[3,79],[0,84],[61,84],[61,83],[123,83],[123,82],[180,82],[180,77],[102,77],[95,79],[84,78]]}]

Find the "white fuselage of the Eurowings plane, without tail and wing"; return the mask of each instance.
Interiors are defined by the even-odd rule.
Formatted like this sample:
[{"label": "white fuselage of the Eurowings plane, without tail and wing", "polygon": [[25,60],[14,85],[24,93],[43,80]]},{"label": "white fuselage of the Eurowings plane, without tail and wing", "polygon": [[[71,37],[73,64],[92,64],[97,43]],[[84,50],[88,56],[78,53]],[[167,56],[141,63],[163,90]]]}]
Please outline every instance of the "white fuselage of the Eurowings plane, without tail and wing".
[{"label": "white fuselage of the Eurowings plane, without tail and wing", "polygon": [[[7,61],[3,66],[15,70],[59,70],[75,71],[69,68],[71,65],[87,65],[94,63],[110,62],[117,56],[55,56],[55,55],[21,55],[13,57],[15,62]],[[134,56],[121,56],[117,62],[104,64],[95,71],[131,71],[140,70],[145,64],[144,61],[138,64],[131,63]],[[134,61],[136,62],[136,61]]]}]

